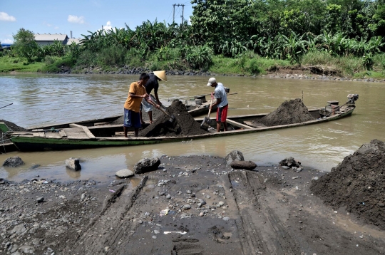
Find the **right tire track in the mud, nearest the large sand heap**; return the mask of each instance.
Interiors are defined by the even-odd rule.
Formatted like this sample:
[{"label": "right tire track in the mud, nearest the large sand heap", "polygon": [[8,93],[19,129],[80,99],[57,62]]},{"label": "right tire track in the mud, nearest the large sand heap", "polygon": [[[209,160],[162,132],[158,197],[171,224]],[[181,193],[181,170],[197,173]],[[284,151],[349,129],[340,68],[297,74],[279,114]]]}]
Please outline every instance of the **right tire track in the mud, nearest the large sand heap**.
[{"label": "right tire track in the mud, nearest the large sand heap", "polygon": [[247,240],[242,242],[242,254],[300,254],[274,210],[258,200],[268,194],[257,172],[232,172],[229,180],[240,215],[237,228]]}]

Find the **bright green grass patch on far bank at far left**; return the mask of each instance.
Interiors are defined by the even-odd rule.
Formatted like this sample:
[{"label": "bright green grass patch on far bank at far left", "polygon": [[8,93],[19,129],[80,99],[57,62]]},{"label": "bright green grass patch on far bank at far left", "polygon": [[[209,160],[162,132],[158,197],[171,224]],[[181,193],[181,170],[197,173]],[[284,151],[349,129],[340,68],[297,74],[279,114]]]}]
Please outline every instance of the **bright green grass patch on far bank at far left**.
[{"label": "bright green grass patch on far bank at far left", "polygon": [[28,63],[23,58],[12,58],[9,56],[0,57],[0,73],[21,72],[36,73],[41,71],[45,64],[41,62]]}]

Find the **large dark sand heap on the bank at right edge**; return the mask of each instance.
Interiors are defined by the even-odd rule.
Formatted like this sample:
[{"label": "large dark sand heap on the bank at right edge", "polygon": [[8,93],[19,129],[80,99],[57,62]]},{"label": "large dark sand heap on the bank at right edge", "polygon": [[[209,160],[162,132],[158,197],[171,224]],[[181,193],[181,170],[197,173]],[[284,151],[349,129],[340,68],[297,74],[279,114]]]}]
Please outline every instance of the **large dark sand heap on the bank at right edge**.
[{"label": "large dark sand heap on the bank at right edge", "polygon": [[385,229],[385,145],[372,140],[313,181],[312,192],[333,209],[346,207],[364,222]]}]

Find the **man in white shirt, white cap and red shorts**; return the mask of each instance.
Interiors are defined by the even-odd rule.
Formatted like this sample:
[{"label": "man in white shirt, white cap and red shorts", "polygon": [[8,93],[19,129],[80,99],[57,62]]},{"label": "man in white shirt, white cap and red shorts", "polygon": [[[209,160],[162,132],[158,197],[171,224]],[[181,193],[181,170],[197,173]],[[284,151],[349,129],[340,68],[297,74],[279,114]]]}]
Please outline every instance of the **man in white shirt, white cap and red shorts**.
[{"label": "man in white shirt, white cap and red shorts", "polygon": [[215,103],[210,105],[210,108],[212,108],[213,105],[217,105],[217,132],[220,132],[220,125],[223,124],[223,130],[227,131],[227,108],[229,106],[229,103],[227,102],[227,94],[225,87],[222,83],[217,83],[217,80],[215,78],[210,78],[207,86],[214,87],[214,96],[217,99]]}]

